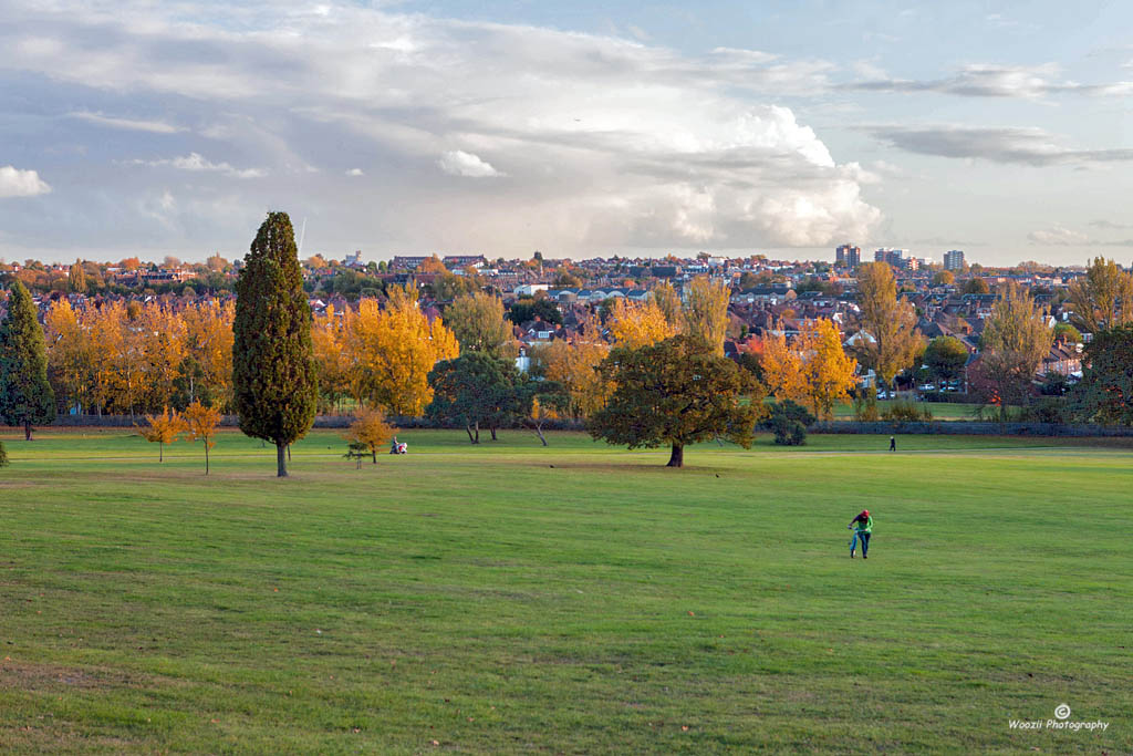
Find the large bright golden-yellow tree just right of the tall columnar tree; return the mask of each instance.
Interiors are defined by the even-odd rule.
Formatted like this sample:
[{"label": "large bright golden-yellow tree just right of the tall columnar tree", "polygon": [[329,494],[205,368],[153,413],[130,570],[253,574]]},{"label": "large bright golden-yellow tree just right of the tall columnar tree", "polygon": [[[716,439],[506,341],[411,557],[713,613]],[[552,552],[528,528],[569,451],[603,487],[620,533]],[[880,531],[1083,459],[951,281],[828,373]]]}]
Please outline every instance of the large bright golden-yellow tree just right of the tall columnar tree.
[{"label": "large bright golden-yellow tree just right of the tall columnar tree", "polygon": [[419,417],[433,400],[428,373],[454,359],[460,346],[440,318],[432,323],[417,304],[415,288],[391,287],[385,309],[363,299],[347,334],[355,398],[395,415]]}]

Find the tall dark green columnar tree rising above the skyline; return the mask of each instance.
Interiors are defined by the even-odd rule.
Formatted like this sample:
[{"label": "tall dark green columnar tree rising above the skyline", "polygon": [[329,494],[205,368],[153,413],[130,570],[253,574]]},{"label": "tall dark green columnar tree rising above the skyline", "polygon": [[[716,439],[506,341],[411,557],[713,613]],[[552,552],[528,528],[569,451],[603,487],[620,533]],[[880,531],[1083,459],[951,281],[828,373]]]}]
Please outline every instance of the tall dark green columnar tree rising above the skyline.
[{"label": "tall dark green columnar tree rising above the skyline", "polygon": [[267,213],[236,297],[232,387],[240,430],[275,444],[278,475],[287,477],[287,448],[310,430],[318,393],[310,306],[287,213]]}]

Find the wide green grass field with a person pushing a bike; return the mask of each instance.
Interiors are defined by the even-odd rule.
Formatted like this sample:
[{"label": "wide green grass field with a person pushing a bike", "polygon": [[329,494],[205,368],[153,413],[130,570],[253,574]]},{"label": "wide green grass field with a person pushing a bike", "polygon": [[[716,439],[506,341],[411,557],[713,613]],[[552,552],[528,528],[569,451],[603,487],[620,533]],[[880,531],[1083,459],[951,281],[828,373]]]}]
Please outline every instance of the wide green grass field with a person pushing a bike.
[{"label": "wide green grass field with a person pushing a bike", "polygon": [[399,436],[5,435],[0,751],[1133,750],[1121,442]]}]

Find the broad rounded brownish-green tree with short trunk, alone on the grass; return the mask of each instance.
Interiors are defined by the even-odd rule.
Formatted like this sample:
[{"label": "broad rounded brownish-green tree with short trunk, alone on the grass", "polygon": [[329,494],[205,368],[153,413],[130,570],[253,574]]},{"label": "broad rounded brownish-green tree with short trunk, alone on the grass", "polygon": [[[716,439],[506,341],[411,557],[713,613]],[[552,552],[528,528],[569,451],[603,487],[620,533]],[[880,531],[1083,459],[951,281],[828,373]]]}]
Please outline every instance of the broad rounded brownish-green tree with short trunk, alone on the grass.
[{"label": "broad rounded brownish-green tree with short trunk, alone on the grass", "polygon": [[614,349],[598,372],[616,388],[590,417],[590,435],[630,449],[670,445],[668,467],[683,466],[684,447],[698,441],[725,436],[750,447],[764,411],[751,373],[695,335]]}]

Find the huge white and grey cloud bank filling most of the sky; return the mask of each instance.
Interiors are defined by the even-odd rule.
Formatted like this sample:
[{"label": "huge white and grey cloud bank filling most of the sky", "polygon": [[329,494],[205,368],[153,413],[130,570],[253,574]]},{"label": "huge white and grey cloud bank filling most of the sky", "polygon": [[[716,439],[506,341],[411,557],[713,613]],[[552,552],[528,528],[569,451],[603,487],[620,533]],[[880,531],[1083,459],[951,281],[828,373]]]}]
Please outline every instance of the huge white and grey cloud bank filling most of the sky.
[{"label": "huge white and grey cloud bank filling most of the sky", "polygon": [[[196,138],[255,156],[272,172],[276,206],[303,204],[312,230],[343,229],[342,244],[380,235],[400,248],[501,253],[819,246],[866,238],[881,218],[861,193],[879,175],[838,163],[791,109],[770,104],[828,88],[824,60],[689,56],[355,3],[49,8],[17,6],[0,26],[0,68],[108,97],[189,102],[211,125]],[[119,161],[212,181],[263,175],[177,138],[182,158]],[[341,169],[301,168],[342,154],[383,169],[347,185]],[[502,176],[496,167],[506,181],[449,178]],[[263,202],[248,193],[222,210],[255,218]],[[186,197],[180,213],[194,206]],[[212,227],[221,226],[201,224]]]}]

